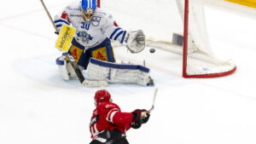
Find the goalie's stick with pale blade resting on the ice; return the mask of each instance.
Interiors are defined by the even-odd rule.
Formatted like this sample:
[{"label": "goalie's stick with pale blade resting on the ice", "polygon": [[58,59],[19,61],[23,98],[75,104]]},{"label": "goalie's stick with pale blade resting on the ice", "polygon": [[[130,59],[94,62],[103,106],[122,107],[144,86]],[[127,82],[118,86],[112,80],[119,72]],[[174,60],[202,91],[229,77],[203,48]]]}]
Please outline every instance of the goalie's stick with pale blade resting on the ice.
[{"label": "goalie's stick with pale blade resting on the ice", "polygon": [[[46,13],[49,17],[49,20],[51,21],[51,24],[55,28],[55,33],[59,34],[59,32],[57,30],[57,27],[55,26],[54,21],[52,20],[52,17],[50,16],[49,11],[48,11],[48,9],[46,8],[46,6],[44,4],[44,1],[43,0],[40,0],[40,1],[41,1],[42,5],[44,7],[44,10],[46,11]],[[74,60],[73,55],[72,55],[72,53],[70,52],[69,49],[67,50],[67,59],[70,61],[71,66],[73,66],[73,70],[76,73],[76,75],[78,76],[79,81],[80,81],[81,84],[83,84],[85,86],[92,86],[92,87],[101,87],[101,86],[107,86],[108,85],[107,81],[93,81],[93,80],[89,80],[89,79],[84,78],[83,73],[79,69],[79,66],[77,65],[76,61]]]}]

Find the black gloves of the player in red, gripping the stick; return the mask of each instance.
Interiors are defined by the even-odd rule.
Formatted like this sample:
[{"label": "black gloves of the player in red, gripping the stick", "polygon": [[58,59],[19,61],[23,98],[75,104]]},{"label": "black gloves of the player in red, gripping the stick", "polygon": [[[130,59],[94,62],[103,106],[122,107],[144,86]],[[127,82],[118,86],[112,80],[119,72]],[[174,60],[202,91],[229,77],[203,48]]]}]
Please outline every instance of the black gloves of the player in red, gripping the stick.
[{"label": "black gloves of the player in red, gripping the stick", "polygon": [[130,124],[131,125],[131,128],[133,129],[139,129],[142,124],[146,124],[148,122],[148,119],[150,117],[150,114],[148,111],[146,110],[140,110],[140,109],[137,109],[132,113],[132,123]]}]

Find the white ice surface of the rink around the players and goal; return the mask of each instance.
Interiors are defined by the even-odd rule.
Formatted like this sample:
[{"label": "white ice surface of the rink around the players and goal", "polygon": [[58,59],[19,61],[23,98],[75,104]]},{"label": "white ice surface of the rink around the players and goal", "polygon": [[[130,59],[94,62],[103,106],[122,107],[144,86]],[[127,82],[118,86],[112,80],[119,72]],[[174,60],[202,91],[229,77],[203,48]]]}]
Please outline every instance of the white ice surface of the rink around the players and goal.
[{"label": "white ice surface of the rink around the players and goal", "polygon": [[[45,0],[54,16],[69,0]],[[110,84],[85,88],[61,79],[55,58],[54,28],[39,0],[2,1],[0,5],[0,144],[90,143],[89,123],[97,89],[108,89],[123,112],[150,108],[147,124],[129,130],[131,144],[256,143],[256,19],[207,8],[213,51],[236,62],[223,78],[185,79],[177,57],[156,49],[131,55],[114,49],[117,60],[152,69],[154,87]]]}]

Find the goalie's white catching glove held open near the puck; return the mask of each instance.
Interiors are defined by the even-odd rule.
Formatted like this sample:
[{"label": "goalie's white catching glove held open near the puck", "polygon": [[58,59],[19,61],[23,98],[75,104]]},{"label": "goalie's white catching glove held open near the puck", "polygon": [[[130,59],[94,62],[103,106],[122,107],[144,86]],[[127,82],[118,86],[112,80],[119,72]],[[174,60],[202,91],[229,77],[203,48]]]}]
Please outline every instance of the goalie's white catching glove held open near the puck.
[{"label": "goalie's white catching glove held open near the puck", "polygon": [[139,53],[145,48],[145,35],[142,30],[129,32],[125,38],[126,47],[131,53]]}]

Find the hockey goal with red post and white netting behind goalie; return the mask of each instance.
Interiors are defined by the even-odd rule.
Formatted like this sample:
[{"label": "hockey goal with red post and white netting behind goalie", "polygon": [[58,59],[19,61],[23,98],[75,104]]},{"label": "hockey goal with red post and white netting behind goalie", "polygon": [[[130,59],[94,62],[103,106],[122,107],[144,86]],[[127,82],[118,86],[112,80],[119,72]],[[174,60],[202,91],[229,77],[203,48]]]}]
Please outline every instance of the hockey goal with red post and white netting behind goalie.
[{"label": "hockey goal with red post and white netting behind goalie", "polygon": [[[183,55],[183,78],[216,78],[236,71],[212,53],[201,0],[98,0],[98,7],[129,31],[142,29],[147,46]],[[172,44],[183,33],[183,47]]]}]

